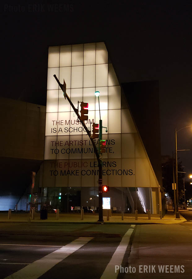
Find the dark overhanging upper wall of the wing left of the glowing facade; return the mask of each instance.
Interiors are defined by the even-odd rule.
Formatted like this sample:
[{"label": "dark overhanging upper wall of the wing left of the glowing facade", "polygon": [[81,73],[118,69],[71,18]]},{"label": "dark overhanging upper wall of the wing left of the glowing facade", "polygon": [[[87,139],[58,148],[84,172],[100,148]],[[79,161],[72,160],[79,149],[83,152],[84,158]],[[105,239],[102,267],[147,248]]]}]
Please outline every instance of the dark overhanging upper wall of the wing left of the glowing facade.
[{"label": "dark overhanging upper wall of the wing left of the glowing facade", "polygon": [[1,98],[0,156],[43,160],[46,107]]}]

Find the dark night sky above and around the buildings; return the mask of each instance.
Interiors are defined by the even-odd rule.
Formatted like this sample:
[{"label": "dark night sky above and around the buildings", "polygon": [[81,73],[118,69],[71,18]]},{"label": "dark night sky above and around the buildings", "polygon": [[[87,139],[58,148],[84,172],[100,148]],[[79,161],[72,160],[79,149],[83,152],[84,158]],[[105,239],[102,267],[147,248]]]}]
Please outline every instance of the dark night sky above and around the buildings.
[{"label": "dark night sky above and around the buildings", "polygon": [[[162,155],[172,155],[175,127],[192,124],[192,1],[35,4],[1,4],[1,95],[46,105],[48,46],[104,41],[120,82],[159,80]],[[191,149],[178,154],[188,175],[192,129],[178,149]]]}]

